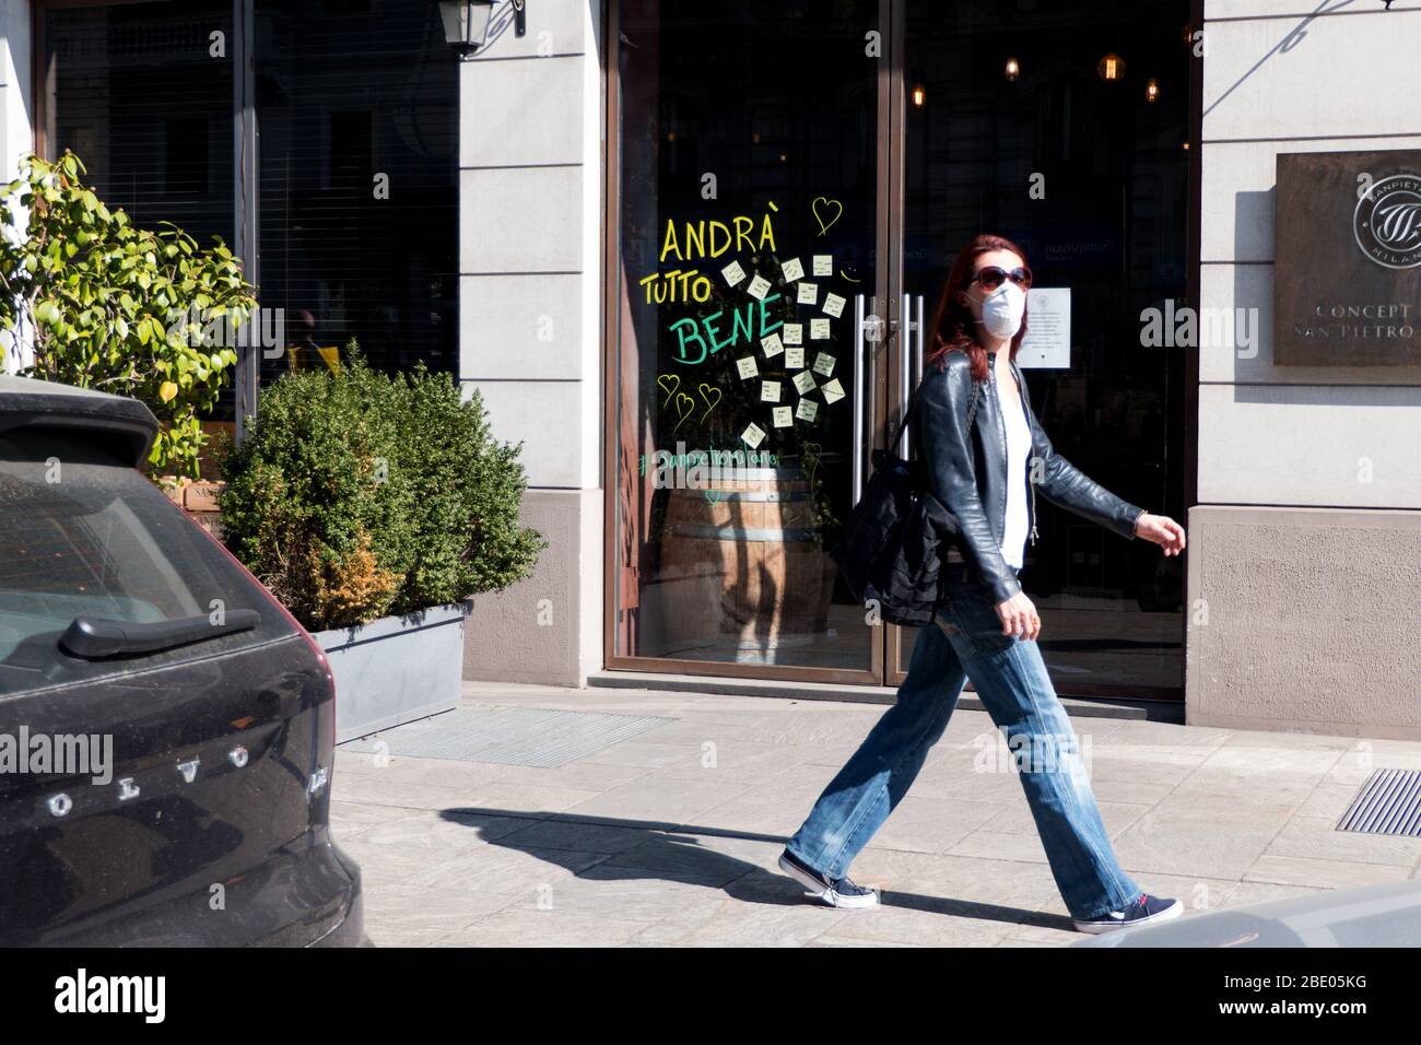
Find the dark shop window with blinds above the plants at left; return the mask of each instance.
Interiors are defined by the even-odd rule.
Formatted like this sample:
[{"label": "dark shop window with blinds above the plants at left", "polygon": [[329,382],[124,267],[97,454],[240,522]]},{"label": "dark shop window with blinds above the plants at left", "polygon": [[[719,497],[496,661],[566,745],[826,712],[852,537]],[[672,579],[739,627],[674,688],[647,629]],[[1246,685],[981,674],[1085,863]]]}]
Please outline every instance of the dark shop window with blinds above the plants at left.
[{"label": "dark shop window with blinds above the plants at left", "polygon": [[[109,205],[202,245],[236,249],[254,218],[247,277],[293,348],[260,360],[261,381],[338,360],[351,338],[385,370],[455,370],[458,64],[436,6],[256,0],[252,11],[244,40],[226,0],[41,4],[45,155],[74,149]],[[254,192],[233,134],[246,58]],[[229,387],[212,422],[230,428],[234,404]]]}]

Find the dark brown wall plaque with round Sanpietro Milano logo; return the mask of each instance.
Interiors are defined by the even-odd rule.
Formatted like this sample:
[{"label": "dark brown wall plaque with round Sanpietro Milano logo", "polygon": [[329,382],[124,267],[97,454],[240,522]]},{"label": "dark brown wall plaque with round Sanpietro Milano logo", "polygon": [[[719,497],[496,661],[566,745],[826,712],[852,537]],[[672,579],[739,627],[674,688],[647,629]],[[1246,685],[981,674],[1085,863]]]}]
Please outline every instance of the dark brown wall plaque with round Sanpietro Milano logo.
[{"label": "dark brown wall plaque with round Sanpietro Milano logo", "polygon": [[1273,363],[1421,364],[1421,151],[1277,155]]}]

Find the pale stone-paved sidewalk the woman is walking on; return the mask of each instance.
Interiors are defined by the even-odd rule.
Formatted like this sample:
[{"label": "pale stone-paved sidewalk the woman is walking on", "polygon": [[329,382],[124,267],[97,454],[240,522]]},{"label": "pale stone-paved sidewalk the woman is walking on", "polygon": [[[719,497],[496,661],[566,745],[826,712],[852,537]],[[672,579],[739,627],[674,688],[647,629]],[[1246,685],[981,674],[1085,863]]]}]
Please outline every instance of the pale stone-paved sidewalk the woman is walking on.
[{"label": "pale stone-paved sidewalk the woman is walking on", "polygon": [[[841,911],[810,901],[774,864],[882,707],[502,684],[466,685],[465,704],[666,721],[556,768],[341,748],[333,830],[364,872],[375,944],[1084,938],[980,711],[953,714],[850,872],[882,890],[882,906]],[[1100,718],[1074,727],[1120,862],[1191,913],[1417,877],[1421,839],[1333,825],[1373,769],[1421,769],[1421,744]]]}]

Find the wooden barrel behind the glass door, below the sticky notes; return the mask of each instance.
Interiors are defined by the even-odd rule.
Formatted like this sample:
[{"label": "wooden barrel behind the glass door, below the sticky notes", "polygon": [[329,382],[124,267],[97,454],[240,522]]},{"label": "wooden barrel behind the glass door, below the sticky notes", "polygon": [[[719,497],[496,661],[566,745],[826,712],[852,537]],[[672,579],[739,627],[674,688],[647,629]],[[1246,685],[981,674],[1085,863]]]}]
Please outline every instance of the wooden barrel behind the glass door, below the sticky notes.
[{"label": "wooden barrel behind the glass door, below the sticky notes", "polygon": [[664,603],[668,651],[713,647],[774,663],[777,650],[824,636],[836,567],[803,472],[723,469],[703,489],[666,493],[658,582],[676,591]]}]

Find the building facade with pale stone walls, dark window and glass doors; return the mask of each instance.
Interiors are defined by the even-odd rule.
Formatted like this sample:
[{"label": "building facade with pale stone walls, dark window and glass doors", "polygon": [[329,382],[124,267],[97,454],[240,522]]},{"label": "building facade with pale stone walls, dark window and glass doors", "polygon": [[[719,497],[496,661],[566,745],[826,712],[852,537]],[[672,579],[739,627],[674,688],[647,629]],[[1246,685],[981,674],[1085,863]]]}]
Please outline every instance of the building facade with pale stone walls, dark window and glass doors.
[{"label": "building facade with pale stone walls, dark window and glass doors", "polygon": [[479,390],[550,547],[466,678],[891,700],[827,549],[990,232],[1056,449],[1189,533],[1039,499],[1059,691],[1421,736],[1421,1],[503,0],[468,61],[435,7],[3,0],[0,144]]}]

